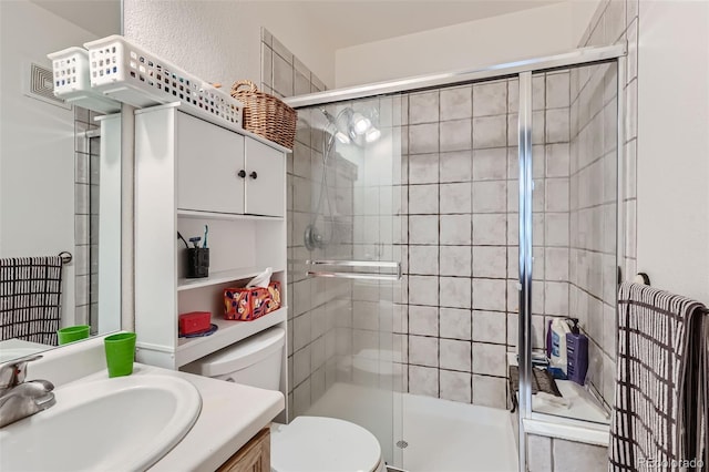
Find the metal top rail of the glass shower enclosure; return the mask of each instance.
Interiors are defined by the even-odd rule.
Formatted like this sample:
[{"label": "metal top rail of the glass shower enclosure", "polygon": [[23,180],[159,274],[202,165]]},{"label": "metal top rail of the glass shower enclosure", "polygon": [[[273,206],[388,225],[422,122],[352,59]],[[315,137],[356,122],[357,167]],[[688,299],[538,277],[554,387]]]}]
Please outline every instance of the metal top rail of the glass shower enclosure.
[{"label": "metal top rail of the glass shower enclosure", "polygon": [[481,69],[465,69],[436,74],[417,75],[407,79],[376,82],[366,85],[309,93],[307,95],[290,96],[284,99],[284,102],[294,109],[299,109],[304,106],[329,104],[399,92],[411,92],[414,90],[453,85],[458,83],[501,79],[511,75],[518,75],[524,72],[536,72],[580,64],[608,62],[625,54],[625,43],[607,47],[582,48],[561,54],[505,62]]}]

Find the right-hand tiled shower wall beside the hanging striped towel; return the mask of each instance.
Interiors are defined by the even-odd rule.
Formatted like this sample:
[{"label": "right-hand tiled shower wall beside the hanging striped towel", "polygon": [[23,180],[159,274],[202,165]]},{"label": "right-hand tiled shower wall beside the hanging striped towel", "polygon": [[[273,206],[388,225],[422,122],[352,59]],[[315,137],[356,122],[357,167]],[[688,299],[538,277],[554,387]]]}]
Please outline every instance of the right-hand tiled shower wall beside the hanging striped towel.
[{"label": "right-hand tiled shower wall beside the hanging striped towel", "polygon": [[[631,279],[636,260],[636,140],[637,140],[637,0],[604,1],[580,45],[628,42],[623,103],[625,144],[624,173],[618,197],[617,181],[617,68],[615,64],[572,72],[572,310],[584,321],[589,343],[589,380],[604,402],[612,407],[616,376],[617,297],[616,208],[618,201],[625,227],[621,275]],[[620,198],[620,199],[619,199]]]}]

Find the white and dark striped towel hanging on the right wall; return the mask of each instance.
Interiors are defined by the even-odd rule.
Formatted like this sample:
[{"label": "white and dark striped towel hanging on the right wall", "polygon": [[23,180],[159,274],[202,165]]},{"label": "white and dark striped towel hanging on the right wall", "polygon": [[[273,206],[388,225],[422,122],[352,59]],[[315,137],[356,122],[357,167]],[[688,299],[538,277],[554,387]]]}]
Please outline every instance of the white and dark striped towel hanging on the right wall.
[{"label": "white and dark striped towel hanging on the right wall", "polygon": [[707,470],[706,312],[646,285],[620,286],[609,471]]}]

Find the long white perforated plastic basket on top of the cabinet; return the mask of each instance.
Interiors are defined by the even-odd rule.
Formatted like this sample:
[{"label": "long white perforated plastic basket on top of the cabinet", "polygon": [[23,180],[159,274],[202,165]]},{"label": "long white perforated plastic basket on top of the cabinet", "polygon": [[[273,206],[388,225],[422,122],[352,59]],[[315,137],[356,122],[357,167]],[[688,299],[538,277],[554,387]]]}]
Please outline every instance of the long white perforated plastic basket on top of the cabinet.
[{"label": "long white perforated plastic basket on top of the cabinet", "polygon": [[88,42],[91,86],[137,107],[182,102],[197,115],[242,129],[244,105],[121,35]]}]

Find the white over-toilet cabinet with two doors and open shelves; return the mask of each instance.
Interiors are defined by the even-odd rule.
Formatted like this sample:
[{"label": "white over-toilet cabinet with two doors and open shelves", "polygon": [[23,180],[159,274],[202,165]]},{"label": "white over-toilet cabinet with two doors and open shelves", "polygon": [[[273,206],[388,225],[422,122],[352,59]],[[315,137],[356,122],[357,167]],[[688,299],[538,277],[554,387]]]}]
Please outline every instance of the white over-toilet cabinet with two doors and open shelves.
[{"label": "white over-toilet cabinet with two doors and open shelves", "polygon": [[[287,152],[185,114],[178,104],[135,112],[138,361],[178,369],[270,326],[286,328]],[[185,278],[186,249],[177,232],[185,239],[204,237],[205,226],[209,277]],[[243,287],[266,267],[281,284],[281,308],[254,321],[225,320],[224,289]],[[210,311],[217,331],[178,338],[178,316],[196,310]]]}]

